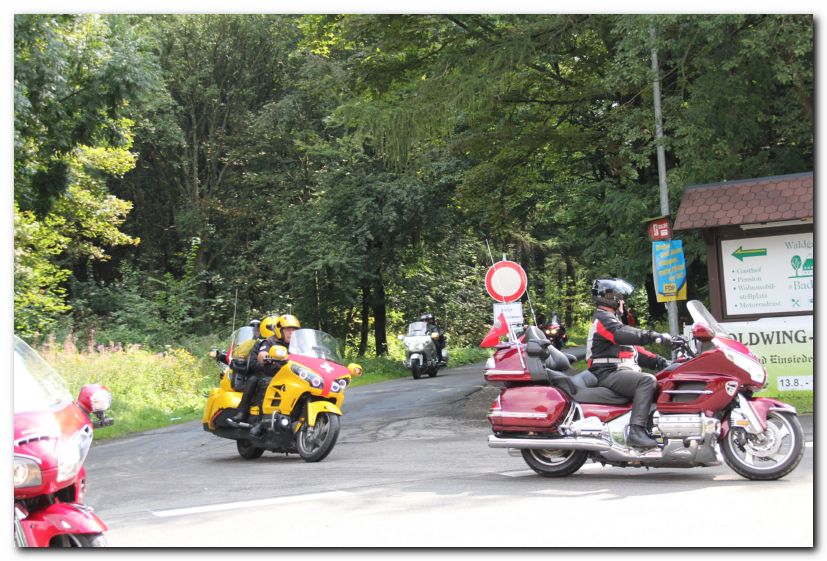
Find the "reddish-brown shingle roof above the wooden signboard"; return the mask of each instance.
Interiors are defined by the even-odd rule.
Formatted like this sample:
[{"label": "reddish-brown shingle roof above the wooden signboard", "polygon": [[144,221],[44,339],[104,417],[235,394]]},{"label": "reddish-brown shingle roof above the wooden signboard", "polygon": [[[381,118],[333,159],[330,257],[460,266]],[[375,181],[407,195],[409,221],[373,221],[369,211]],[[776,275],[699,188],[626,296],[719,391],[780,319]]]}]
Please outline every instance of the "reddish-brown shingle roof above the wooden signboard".
[{"label": "reddish-brown shingle roof above the wooden signboard", "polygon": [[691,185],[673,230],[813,218],[813,172]]}]

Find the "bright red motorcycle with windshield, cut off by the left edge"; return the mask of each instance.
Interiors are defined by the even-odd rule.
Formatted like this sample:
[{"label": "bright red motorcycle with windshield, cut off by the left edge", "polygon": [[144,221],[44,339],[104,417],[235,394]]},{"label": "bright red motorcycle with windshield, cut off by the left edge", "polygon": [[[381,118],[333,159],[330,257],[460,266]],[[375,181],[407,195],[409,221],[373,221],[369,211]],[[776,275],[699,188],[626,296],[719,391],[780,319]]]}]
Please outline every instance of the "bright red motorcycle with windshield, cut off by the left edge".
[{"label": "bright red motorcycle with windshield, cut off by the left edge", "polygon": [[83,503],[92,428],[113,423],[112,394],[90,384],[77,402],[63,378],[14,336],[14,541],[101,547],[106,524]]}]

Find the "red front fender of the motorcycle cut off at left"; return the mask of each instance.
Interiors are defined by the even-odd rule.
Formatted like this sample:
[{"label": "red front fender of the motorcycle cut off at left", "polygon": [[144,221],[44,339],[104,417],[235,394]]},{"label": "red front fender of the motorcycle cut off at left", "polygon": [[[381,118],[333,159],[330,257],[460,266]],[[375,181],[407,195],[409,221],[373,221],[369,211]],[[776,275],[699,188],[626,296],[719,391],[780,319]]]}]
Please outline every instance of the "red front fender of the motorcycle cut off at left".
[{"label": "red front fender of the motorcycle cut off at left", "polygon": [[101,534],[108,530],[91,508],[70,503],[54,503],[30,513],[21,525],[26,542],[36,547],[48,546],[59,535]]}]

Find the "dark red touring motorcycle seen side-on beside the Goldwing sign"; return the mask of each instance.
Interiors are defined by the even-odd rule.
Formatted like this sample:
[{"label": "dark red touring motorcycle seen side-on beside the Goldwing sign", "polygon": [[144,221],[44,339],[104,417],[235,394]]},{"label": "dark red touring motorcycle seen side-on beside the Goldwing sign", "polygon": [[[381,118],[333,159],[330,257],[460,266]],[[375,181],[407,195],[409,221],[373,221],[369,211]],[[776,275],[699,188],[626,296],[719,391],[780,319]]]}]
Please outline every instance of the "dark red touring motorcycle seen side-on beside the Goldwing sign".
[{"label": "dark red touring motorcycle seen side-on beside the Goldwing sign", "polygon": [[687,303],[694,348],[681,337],[678,358],[656,374],[647,431],[657,448],[626,444],[630,399],[597,386],[586,370],[569,376],[574,357],[559,352],[536,327],[525,343],[497,345],[485,379],[504,386],[488,412],[492,448],[516,449],[546,477],[576,472],[591,459],[603,465],[696,467],[727,465],[747,479],[792,472],[804,455],[794,407],[753,394],[767,373],[747,347],[727,337],[698,301]]}]

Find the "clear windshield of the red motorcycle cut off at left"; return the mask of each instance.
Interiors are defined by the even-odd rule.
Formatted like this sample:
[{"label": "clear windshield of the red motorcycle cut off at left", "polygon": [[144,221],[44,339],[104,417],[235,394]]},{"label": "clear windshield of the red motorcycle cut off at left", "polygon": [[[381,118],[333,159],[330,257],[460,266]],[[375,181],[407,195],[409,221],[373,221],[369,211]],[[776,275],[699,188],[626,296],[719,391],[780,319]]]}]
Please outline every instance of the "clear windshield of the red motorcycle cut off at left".
[{"label": "clear windshield of the red motorcycle cut off at left", "polygon": [[71,401],[60,374],[14,335],[14,412],[48,411]]}]

